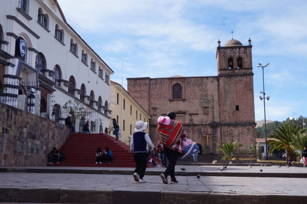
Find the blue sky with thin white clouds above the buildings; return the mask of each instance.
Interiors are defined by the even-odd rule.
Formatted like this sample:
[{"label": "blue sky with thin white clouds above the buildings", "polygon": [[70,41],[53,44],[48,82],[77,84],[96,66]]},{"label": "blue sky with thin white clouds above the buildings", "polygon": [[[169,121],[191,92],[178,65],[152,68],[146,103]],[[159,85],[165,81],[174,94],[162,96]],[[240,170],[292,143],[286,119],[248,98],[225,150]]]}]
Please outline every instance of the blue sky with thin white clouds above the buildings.
[{"label": "blue sky with thin white clouds above the buildings", "polygon": [[[217,41],[251,38],[255,120],[307,116],[307,1],[58,0],[76,32],[126,78],[217,76]],[[123,65],[123,66],[122,66]],[[123,67],[123,69],[122,69]],[[122,72],[123,70],[123,72]],[[122,81],[123,78],[123,81]]]}]

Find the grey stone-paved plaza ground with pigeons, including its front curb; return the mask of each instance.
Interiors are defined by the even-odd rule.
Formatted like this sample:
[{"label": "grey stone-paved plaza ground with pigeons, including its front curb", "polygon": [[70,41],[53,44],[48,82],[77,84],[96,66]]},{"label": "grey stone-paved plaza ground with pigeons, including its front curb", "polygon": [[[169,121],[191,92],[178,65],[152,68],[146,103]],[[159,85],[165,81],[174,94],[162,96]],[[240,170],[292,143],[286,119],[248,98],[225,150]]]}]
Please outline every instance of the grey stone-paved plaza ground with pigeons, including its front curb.
[{"label": "grey stone-paved plaza ground with pigeons, including its front curb", "polygon": [[[133,179],[133,168],[0,168],[0,202],[36,203],[290,203],[307,202],[307,168],[276,166],[176,166],[178,184],[163,184],[165,168],[147,168]],[[180,168],[185,168],[182,171]],[[4,172],[6,169],[6,172]],[[262,169],[262,172],[260,172]],[[37,173],[26,173],[26,171]],[[63,171],[78,170],[80,173]],[[44,173],[53,171],[54,173]],[[83,172],[82,172],[83,171]],[[92,173],[91,173],[92,171]],[[104,174],[98,173],[104,171]],[[214,173],[217,176],[196,174]],[[230,174],[231,176],[228,176]],[[241,176],[241,174],[249,174]],[[263,177],[267,174],[267,177]],[[182,176],[186,175],[186,176]],[[192,176],[193,175],[193,176]],[[278,177],[285,175],[285,177]],[[291,176],[292,175],[292,176]],[[302,178],[304,177],[304,178]]]}]

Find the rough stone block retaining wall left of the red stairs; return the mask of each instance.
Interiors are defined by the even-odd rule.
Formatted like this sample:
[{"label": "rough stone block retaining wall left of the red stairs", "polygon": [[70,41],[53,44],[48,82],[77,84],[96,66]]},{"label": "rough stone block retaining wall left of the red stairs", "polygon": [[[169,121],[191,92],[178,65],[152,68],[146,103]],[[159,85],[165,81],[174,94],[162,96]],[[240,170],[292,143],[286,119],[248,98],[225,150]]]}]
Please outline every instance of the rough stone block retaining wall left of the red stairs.
[{"label": "rough stone block retaining wall left of the red stairs", "polygon": [[70,134],[67,126],[0,103],[0,166],[46,166],[52,147]]}]

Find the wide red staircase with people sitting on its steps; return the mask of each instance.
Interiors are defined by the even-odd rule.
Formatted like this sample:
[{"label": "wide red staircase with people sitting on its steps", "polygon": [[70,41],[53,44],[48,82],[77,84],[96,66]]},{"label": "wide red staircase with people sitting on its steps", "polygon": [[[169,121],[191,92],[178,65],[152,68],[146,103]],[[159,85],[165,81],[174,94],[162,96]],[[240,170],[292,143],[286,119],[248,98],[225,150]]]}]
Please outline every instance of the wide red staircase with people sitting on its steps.
[{"label": "wide red staircase with people sitting on its steps", "polygon": [[[111,164],[95,164],[95,152],[98,147],[109,147],[113,154]],[[80,167],[135,167],[130,147],[107,134],[71,134],[60,151],[65,154],[65,161],[48,166]],[[152,164],[147,164],[153,167]]]}]

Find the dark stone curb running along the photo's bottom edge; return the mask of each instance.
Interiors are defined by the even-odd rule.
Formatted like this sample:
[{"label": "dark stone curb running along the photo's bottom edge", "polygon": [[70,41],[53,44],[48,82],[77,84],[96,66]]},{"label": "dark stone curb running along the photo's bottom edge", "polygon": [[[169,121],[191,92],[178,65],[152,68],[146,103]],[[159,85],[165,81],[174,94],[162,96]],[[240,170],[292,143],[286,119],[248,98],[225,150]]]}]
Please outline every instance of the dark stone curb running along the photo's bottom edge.
[{"label": "dark stone curb running along the photo's bottom edge", "polygon": [[0,202],[127,204],[305,203],[306,195],[0,187]]}]

